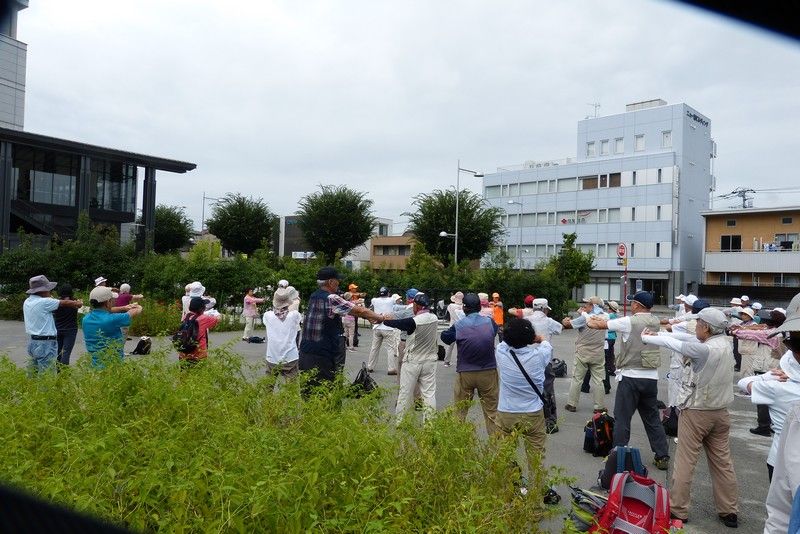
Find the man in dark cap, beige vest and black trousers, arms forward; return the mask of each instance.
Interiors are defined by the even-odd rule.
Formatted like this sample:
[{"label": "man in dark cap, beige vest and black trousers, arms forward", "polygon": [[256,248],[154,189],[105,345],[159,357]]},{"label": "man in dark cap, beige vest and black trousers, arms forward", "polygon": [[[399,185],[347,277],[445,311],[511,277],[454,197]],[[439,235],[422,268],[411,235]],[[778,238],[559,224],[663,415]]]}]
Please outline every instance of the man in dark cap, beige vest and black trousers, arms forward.
[{"label": "man in dark cap, beige vest and black trousers, arms forward", "polygon": [[622,350],[616,357],[617,395],[614,400],[614,445],[627,445],[631,437],[631,418],[638,411],[644,424],[650,448],[655,454],[658,469],[669,467],[667,435],[658,413],[658,368],[661,350],[647,346],[642,341],[642,332],[647,329],[658,332],[658,318],[650,313],[653,295],[639,291],[631,300],[633,315],[611,319],[589,317],[586,326],[598,330],[617,332],[622,338]]}]

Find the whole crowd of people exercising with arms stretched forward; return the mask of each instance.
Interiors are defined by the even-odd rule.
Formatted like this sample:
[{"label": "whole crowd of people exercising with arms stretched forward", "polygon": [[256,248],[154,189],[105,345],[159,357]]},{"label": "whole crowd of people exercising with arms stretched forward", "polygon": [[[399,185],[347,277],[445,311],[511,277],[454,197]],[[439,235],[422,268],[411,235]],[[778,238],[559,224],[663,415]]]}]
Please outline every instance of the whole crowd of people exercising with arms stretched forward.
[{"label": "whole crowd of people exercising with arms stretched forward", "polygon": [[[347,350],[355,348],[356,319],[372,324],[367,370],[375,372],[383,348],[387,372],[397,375],[398,424],[413,408],[423,420],[437,409],[437,367],[440,342],[446,346],[443,366],[456,376],[453,398],[463,420],[477,394],[490,436],[518,432],[524,438],[529,476],[541,476],[547,434],[558,432],[552,369],[552,336],[575,329],[575,356],[567,412],[577,412],[582,392],[593,394],[593,410],[605,412],[605,395],[615,389],[613,444],[628,445],[631,420],[639,413],[656,468],[667,470],[671,458],[658,399],[661,349],[670,351],[667,408],[679,414],[678,438],[670,483],[671,512],[689,519],[690,494],[701,452],[709,465],[714,503],[721,522],[738,525],[739,491],[730,451],[733,384],[757,406],[756,435],[772,438],[766,458],[770,482],[765,532],[784,532],[800,485],[800,462],[792,455],[800,432],[800,295],[769,314],[747,296],[731,299],[724,309],[709,306],[695,295],[676,297],[674,317],[652,313],[652,294],[629,297],[631,314],[620,315],[619,304],[600,297],[583,299],[561,322],[549,317],[547,299],[529,295],[524,306],[506,308],[494,293],[456,292],[448,305],[449,324],[440,332],[428,295],[411,288],[405,299],[381,287],[370,306],[356,284],[340,291],[342,276],[333,267],[317,273],[317,290],[301,314],[300,295],[281,280],[272,305],[262,316],[267,331],[267,373],[291,380],[310,372],[304,394],[333,381],[344,368]],[[32,368],[44,371],[55,362],[68,364],[83,302],[72,289],[59,289],[43,275],[30,279],[23,305]],[[111,350],[123,357],[124,329],[141,313],[141,295],[106,286],[102,277],[89,295],[90,311],[83,318],[86,350],[92,365],[103,367],[101,355]],[[257,305],[266,299],[248,289],[244,297],[245,331],[252,334]],[[199,347],[179,357],[196,363],[207,357],[208,331],[219,321],[216,302],[200,282],[186,286],[182,325],[195,321]],[[786,350],[788,349],[788,350]],[[612,388],[612,382],[615,387]],[[795,441],[789,441],[789,440]]]}]

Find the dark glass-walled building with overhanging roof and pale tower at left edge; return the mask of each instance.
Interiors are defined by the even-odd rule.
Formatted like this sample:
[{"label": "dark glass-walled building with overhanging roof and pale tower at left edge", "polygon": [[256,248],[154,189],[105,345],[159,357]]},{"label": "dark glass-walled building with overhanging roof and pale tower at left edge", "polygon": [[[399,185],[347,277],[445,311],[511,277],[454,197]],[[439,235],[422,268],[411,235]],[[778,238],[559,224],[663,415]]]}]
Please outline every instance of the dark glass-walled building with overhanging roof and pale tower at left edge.
[{"label": "dark glass-walled building with overhanging roof and pale tower at left edge", "polygon": [[17,14],[28,1],[0,5],[0,252],[18,242],[20,228],[70,237],[83,211],[118,230],[134,223],[140,168],[143,231],[137,236],[142,245],[151,242],[156,171],[185,173],[195,164],[24,131],[27,45],[16,35]]}]

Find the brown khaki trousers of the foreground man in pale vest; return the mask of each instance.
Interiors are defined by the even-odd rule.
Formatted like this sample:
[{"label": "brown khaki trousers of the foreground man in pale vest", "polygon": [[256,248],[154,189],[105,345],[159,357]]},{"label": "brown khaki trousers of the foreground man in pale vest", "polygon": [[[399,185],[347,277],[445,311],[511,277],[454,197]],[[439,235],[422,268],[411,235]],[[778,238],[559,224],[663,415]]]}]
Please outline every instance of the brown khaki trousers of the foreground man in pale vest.
[{"label": "brown khaki trousers of the foreground man in pale vest", "polygon": [[680,438],[670,488],[670,507],[676,516],[689,517],[692,478],[701,448],[706,452],[717,513],[738,513],[739,486],[731,459],[730,430],[727,408],[681,411],[678,419]]}]

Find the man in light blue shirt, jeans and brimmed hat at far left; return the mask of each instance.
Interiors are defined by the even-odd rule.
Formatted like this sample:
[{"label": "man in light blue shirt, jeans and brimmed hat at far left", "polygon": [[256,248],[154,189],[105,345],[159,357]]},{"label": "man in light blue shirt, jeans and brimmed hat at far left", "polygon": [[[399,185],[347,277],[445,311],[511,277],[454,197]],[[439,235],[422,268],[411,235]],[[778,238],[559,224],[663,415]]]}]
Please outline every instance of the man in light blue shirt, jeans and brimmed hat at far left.
[{"label": "man in light blue shirt, jeans and brimmed hat at far left", "polygon": [[28,340],[29,368],[33,372],[55,370],[58,357],[58,332],[53,312],[60,307],[80,308],[80,300],[58,300],[50,296],[57,282],[51,282],[43,274],[28,280],[29,295],[22,303],[25,318],[25,333]]}]

